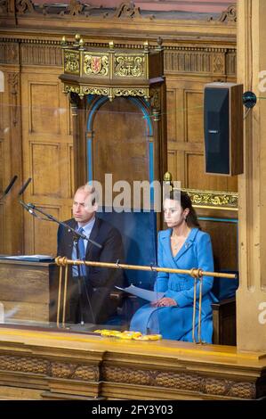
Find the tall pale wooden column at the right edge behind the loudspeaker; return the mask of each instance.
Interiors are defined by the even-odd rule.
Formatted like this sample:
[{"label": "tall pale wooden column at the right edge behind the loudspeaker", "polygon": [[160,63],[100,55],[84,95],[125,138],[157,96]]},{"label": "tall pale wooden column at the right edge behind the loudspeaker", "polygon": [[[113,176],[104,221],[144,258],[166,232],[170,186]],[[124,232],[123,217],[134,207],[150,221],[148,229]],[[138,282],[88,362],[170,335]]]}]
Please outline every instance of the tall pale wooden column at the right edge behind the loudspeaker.
[{"label": "tall pale wooden column at the right edge behind the loudspeaker", "polygon": [[[244,91],[260,92],[266,70],[266,2],[238,1],[238,82]],[[245,172],[238,177],[239,267],[237,293],[238,349],[266,351],[266,101],[259,99],[246,115]],[[264,314],[263,314],[264,310]],[[264,324],[263,324],[264,323]]]}]

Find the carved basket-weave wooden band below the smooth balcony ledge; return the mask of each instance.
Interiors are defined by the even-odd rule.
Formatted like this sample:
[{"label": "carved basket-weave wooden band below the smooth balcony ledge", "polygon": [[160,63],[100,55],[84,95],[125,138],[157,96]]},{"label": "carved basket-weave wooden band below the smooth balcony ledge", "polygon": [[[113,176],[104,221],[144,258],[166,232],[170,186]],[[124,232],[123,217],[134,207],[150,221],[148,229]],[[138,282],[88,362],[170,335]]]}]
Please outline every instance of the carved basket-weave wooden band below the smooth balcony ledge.
[{"label": "carved basket-weave wooden band below the smooth balcony ledge", "polygon": [[[59,362],[42,357],[19,357],[0,355],[0,370],[27,374],[42,374],[47,377],[84,382],[99,382],[99,366]],[[206,374],[141,369],[135,366],[101,367],[101,380],[173,390],[189,390],[210,396],[225,398],[256,398],[255,382],[238,382],[232,379],[208,377]],[[263,393],[264,394],[264,393]]]}]

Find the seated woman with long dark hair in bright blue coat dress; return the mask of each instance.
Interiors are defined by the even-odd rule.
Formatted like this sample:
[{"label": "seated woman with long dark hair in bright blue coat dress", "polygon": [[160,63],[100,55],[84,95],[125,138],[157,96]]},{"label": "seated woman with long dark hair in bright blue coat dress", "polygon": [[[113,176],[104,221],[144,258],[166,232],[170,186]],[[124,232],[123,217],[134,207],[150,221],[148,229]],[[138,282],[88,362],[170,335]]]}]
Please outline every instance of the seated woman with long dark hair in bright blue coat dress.
[{"label": "seated woman with long dark hair in bright blue coat dress", "polygon": [[[200,230],[197,214],[187,193],[180,199],[173,192],[164,201],[165,222],[169,227],[158,234],[158,267],[214,272],[214,257],[209,234]],[[212,294],[213,277],[203,276],[201,339],[212,343],[213,312],[217,301]],[[197,299],[198,299],[197,283]],[[134,314],[130,328],[141,333],[161,333],[164,339],[192,340],[194,279],[190,275],[159,272],[154,286],[164,292],[157,301],[142,306]],[[198,300],[195,338],[197,339]]]}]

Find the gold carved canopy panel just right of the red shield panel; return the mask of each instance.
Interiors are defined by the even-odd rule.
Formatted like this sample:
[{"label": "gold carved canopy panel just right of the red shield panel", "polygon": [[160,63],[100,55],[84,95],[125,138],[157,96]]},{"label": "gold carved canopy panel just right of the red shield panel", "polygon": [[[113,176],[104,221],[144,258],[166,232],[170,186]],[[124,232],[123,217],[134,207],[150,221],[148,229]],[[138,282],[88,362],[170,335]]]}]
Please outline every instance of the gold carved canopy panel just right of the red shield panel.
[{"label": "gold carved canopy panel just right of the red shield panel", "polygon": [[144,77],[145,57],[141,55],[116,54],[114,73],[118,77]]}]

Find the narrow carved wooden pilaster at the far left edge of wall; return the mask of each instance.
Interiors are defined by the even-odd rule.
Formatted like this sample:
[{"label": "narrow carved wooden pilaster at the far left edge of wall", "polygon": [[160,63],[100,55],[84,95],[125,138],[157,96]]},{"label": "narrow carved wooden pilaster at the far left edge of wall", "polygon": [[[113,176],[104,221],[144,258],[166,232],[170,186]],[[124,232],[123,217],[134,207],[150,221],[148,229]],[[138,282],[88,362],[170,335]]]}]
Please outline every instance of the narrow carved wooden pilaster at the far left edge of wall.
[{"label": "narrow carved wooden pilaster at the far left edge of wall", "polygon": [[19,45],[14,42],[1,44],[5,66],[4,92],[0,111],[0,165],[2,186],[9,184],[14,175],[16,185],[1,202],[1,249],[4,253],[17,254],[23,251],[22,208],[14,199],[22,183],[21,160],[21,102],[20,102],[20,54]]}]

